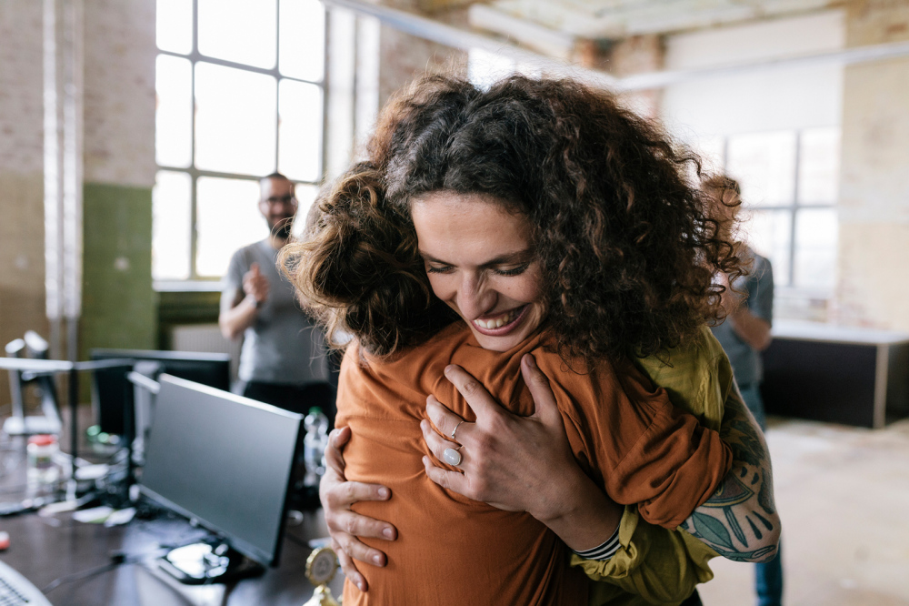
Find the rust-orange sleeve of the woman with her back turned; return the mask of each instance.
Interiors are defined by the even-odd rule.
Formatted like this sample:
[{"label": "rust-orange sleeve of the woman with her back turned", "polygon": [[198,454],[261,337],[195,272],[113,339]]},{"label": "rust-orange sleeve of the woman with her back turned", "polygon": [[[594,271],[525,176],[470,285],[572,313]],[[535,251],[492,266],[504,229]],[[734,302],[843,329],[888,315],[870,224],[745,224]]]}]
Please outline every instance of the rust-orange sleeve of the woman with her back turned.
[{"label": "rust-orange sleeve of the woman with her back turned", "polygon": [[613,500],[637,503],[644,520],[674,530],[720,486],[732,451],[719,433],[676,411],[630,364],[562,377],[575,457]]}]

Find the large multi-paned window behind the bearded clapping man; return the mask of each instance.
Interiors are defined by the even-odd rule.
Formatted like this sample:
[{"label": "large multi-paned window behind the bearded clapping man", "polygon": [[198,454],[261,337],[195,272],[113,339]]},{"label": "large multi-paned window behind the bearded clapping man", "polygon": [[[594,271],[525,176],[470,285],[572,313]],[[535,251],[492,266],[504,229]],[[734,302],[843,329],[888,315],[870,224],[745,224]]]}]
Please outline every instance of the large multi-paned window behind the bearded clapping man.
[{"label": "large multi-paned window behind the bearded clapping man", "polygon": [[258,178],[323,172],[325,11],[318,0],[157,0],[155,280],[221,278],[267,236]]}]

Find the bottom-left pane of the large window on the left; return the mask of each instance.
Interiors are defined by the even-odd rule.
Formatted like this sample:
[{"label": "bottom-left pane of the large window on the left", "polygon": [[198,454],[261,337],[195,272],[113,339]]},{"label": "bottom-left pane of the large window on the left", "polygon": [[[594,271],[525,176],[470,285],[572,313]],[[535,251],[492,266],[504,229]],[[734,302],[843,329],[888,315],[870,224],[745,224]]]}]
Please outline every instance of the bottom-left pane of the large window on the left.
[{"label": "bottom-left pane of the large window on the left", "polygon": [[159,170],[152,189],[152,277],[189,278],[192,179],[186,173]]}]

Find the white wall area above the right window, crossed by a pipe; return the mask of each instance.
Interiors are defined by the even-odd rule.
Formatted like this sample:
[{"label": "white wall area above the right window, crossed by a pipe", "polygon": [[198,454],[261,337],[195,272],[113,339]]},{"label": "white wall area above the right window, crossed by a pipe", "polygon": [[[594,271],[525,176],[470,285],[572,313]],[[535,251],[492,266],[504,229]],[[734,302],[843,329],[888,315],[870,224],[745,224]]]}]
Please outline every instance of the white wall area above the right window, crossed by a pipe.
[{"label": "white wall area above the right window, crossed by a pipe", "polygon": [[[844,48],[841,11],[715,28],[666,39],[665,69],[697,69]],[[676,135],[702,137],[838,126],[843,67],[764,68],[664,89],[662,117]]]}]

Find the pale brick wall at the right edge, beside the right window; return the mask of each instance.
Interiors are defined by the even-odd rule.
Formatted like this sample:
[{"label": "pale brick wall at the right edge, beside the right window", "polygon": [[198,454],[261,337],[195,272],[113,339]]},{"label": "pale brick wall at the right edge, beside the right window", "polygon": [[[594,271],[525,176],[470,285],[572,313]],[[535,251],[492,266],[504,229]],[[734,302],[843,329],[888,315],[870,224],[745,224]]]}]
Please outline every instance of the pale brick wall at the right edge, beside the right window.
[{"label": "pale brick wall at the right edge, beside the right window", "polygon": [[[851,2],[847,45],[909,40],[909,0]],[[845,70],[838,319],[909,330],[909,59]]]}]

